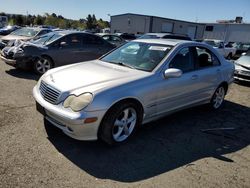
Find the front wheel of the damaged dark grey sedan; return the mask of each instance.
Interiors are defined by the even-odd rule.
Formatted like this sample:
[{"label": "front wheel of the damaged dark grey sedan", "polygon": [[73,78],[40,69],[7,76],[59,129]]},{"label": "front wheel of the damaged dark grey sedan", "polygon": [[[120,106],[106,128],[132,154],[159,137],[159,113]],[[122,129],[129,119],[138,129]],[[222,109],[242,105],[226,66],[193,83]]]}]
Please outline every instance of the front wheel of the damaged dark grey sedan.
[{"label": "front wheel of the damaged dark grey sedan", "polygon": [[34,63],[34,71],[42,75],[53,67],[52,60],[49,57],[43,56],[38,58]]}]

